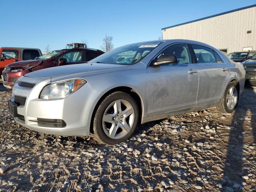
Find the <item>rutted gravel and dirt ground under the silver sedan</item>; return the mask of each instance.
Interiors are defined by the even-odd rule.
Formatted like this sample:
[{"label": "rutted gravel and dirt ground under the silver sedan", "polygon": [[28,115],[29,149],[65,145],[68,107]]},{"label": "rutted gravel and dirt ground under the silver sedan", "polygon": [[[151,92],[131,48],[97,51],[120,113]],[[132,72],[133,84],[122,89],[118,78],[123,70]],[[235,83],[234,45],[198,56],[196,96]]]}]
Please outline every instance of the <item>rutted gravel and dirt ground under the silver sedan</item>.
[{"label": "rutted gravel and dirt ground under the silver sedan", "polygon": [[256,191],[256,88],[216,108],[138,126],[122,144],[30,131],[0,85],[0,191]]}]

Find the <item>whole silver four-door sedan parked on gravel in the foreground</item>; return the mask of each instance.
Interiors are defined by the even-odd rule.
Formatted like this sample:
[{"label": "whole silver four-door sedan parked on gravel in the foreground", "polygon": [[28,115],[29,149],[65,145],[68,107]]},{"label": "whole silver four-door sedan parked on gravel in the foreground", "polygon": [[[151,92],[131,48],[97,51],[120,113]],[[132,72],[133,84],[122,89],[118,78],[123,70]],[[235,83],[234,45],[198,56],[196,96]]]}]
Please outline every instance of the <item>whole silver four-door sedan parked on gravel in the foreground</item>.
[{"label": "whole silver four-door sedan parked on gravel in the foreground", "polygon": [[105,144],[132,136],[139,123],[217,106],[232,113],[244,68],[207,44],[162,40],[129,44],[86,64],[19,78],[8,101],[14,119],[46,134]]}]

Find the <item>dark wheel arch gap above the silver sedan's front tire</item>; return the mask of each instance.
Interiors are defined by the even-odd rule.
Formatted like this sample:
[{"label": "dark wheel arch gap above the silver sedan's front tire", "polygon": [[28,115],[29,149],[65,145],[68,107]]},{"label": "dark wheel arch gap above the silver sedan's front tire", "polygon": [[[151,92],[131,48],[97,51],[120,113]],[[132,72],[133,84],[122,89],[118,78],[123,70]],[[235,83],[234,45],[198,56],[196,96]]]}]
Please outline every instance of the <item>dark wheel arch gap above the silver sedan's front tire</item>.
[{"label": "dark wheel arch gap above the silver sedan's front tire", "polygon": [[143,100],[140,96],[140,94],[134,90],[133,88],[131,87],[128,87],[128,86],[118,86],[118,87],[115,87],[115,88],[112,88],[108,91],[106,91],[97,101],[95,107],[94,107],[94,110],[92,112],[92,117],[91,117],[91,120],[90,120],[90,132],[93,133],[93,121],[94,121],[94,115],[96,113],[96,110],[98,108],[98,106],[100,105],[100,103],[102,102],[102,100],[104,100],[104,98],[106,98],[106,96],[108,96],[109,94],[113,93],[113,92],[116,92],[116,91],[122,91],[122,92],[125,92],[127,94],[129,94],[130,96],[132,96],[132,98],[135,100],[136,104],[138,105],[138,109],[139,109],[139,122],[141,123],[142,122],[142,117],[143,117],[143,114],[144,114],[144,103],[143,103]]}]

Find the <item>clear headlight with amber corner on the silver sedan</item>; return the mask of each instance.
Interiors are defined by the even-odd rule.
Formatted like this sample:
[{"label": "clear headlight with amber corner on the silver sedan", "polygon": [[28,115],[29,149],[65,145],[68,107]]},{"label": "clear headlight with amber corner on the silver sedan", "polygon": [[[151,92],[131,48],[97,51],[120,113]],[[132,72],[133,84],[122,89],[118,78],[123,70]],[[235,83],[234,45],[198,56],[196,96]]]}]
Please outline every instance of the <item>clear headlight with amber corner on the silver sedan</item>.
[{"label": "clear headlight with amber corner on the silver sedan", "polygon": [[61,99],[74,93],[86,84],[82,79],[70,79],[45,86],[39,96],[40,99]]}]

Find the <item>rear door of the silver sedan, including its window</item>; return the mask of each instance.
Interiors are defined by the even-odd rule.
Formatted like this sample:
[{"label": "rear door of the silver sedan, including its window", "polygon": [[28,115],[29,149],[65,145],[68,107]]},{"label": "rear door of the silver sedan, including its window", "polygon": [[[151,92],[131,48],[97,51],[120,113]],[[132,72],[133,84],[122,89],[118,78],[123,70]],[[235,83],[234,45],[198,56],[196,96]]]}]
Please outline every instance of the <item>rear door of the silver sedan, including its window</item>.
[{"label": "rear door of the silver sedan, including its window", "polygon": [[196,57],[199,72],[197,106],[218,102],[224,91],[228,76],[229,64],[211,48],[191,44]]}]

